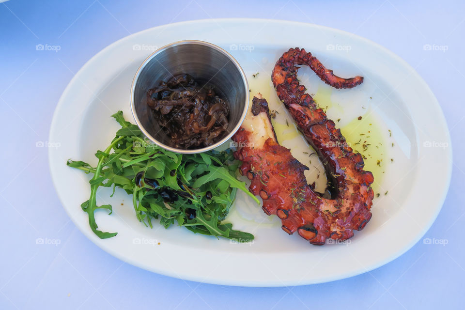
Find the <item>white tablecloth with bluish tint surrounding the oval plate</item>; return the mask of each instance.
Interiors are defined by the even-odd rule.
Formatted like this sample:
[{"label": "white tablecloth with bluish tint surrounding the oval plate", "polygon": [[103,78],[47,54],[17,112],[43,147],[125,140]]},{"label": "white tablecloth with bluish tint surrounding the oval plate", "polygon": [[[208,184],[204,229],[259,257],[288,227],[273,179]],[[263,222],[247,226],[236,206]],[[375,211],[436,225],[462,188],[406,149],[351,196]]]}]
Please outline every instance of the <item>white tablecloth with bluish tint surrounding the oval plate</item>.
[{"label": "white tablecloth with bluish tint surrounding the oval plate", "polygon": [[[464,309],[465,210],[459,194],[465,177],[465,100],[460,95],[465,83],[465,2],[414,2],[0,3],[0,309]],[[442,245],[420,241],[395,261],[350,279],[246,288],[153,274],[113,258],[84,237],[52,186],[47,148],[36,147],[48,139],[64,88],[94,54],[124,36],[212,17],[295,20],[350,31],[416,68],[436,95],[452,138],[451,186],[425,235]],[[37,50],[37,45],[59,50]],[[56,245],[36,244],[37,238]]]}]

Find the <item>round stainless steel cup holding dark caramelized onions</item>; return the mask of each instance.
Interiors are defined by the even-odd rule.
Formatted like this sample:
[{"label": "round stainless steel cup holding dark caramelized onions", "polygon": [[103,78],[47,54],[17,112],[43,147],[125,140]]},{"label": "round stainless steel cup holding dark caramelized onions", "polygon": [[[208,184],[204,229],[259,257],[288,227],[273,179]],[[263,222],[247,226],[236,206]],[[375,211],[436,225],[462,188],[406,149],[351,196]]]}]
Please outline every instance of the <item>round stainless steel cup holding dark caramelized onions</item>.
[{"label": "round stainless steel cup holding dark caramelized onions", "polygon": [[[170,137],[160,128],[147,105],[149,89],[183,73],[213,85],[230,106],[227,134],[208,147],[188,150],[171,147]],[[203,41],[179,41],[157,49],[142,62],[131,86],[132,114],[140,130],[162,148],[184,154],[209,151],[229,140],[246,117],[248,100],[248,82],[239,63],[224,49]]]}]

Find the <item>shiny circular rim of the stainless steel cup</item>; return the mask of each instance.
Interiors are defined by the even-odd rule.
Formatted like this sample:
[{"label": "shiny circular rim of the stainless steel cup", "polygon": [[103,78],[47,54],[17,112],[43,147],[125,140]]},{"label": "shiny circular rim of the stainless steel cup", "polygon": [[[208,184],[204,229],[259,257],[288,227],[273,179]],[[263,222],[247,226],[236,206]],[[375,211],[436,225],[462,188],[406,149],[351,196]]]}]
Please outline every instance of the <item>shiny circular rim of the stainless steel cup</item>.
[{"label": "shiny circular rim of the stainless steel cup", "polygon": [[[147,132],[145,127],[140,123],[139,117],[138,117],[138,115],[136,113],[136,105],[135,105],[135,100],[134,100],[134,95],[135,95],[135,92],[136,92],[136,85],[137,85],[138,79],[140,77],[140,73],[145,68],[145,66],[149,62],[151,62],[152,59],[154,59],[155,56],[157,56],[161,52],[163,52],[163,51],[165,51],[165,50],[167,50],[167,49],[169,49],[171,47],[176,47],[176,46],[180,46],[180,45],[187,45],[187,44],[196,44],[196,45],[203,45],[203,46],[206,46],[206,47],[211,47],[213,49],[216,49],[220,53],[224,54],[231,62],[233,62],[235,67],[239,70],[239,73],[240,73],[240,75],[242,77],[242,81],[244,82],[244,86],[246,88],[246,90],[245,90],[245,93],[246,93],[245,101],[246,102],[245,102],[244,110],[242,111],[242,115],[241,115],[239,121],[237,122],[237,124],[234,126],[233,130],[231,130],[225,137],[223,137],[223,139],[217,141],[216,143],[214,143],[214,144],[212,144],[210,146],[203,147],[201,149],[178,149],[178,148],[171,147],[169,145],[166,145],[166,144],[161,143],[160,141],[156,140],[151,134],[149,134]],[[218,146],[225,143],[227,140],[231,139],[231,137],[237,132],[237,130],[239,130],[240,126],[244,122],[244,119],[246,118],[246,115],[247,115],[247,112],[248,112],[248,107],[249,107],[249,100],[250,100],[250,92],[249,92],[249,87],[248,87],[248,80],[247,80],[246,74],[244,73],[244,70],[242,69],[239,62],[237,62],[237,60],[230,53],[228,53],[226,50],[224,50],[223,48],[218,47],[217,45],[214,45],[212,43],[205,42],[205,41],[200,41],[200,40],[176,41],[176,42],[172,42],[170,44],[167,44],[167,45],[165,45],[163,47],[160,47],[160,48],[156,49],[152,54],[150,54],[140,64],[139,68],[136,71],[134,79],[132,80],[131,91],[130,91],[131,112],[132,112],[132,116],[134,117],[134,120],[135,120],[137,126],[139,127],[140,131],[142,131],[142,133],[149,140],[151,140],[153,143],[155,143],[156,145],[164,148],[165,150],[168,150],[168,151],[171,151],[171,152],[174,152],[174,153],[180,153],[180,154],[197,154],[197,153],[207,152],[207,151],[210,151],[210,150],[213,150],[213,149],[217,148]]]}]

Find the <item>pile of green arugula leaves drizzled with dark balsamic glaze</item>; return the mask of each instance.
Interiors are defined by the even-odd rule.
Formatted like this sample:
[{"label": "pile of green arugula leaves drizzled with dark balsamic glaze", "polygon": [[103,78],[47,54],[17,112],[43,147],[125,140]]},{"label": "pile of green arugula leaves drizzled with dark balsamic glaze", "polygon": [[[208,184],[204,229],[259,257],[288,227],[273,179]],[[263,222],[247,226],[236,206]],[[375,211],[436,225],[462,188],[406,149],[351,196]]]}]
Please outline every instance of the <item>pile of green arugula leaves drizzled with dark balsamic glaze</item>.
[{"label": "pile of green arugula leaves drizzled with dark balsamic glaze", "polygon": [[[209,151],[201,154],[177,154],[148,143],[139,127],[124,120],[123,112],[112,117],[122,126],[104,151],[97,151],[96,167],[83,161],[69,159],[67,165],[92,173],[89,181],[91,196],[81,204],[89,216],[89,225],[100,238],[117,233],[97,230],[94,212],[108,209],[110,204],[97,206],[96,193],[100,186],[123,188],[132,194],[139,221],[152,228],[159,219],[165,228],[175,222],[194,233],[222,236],[235,240],[252,240],[253,235],[232,229],[223,223],[236,196],[237,189],[248,193],[245,183],[236,179],[239,161],[232,151]],[[113,152],[111,152],[113,151]]]}]

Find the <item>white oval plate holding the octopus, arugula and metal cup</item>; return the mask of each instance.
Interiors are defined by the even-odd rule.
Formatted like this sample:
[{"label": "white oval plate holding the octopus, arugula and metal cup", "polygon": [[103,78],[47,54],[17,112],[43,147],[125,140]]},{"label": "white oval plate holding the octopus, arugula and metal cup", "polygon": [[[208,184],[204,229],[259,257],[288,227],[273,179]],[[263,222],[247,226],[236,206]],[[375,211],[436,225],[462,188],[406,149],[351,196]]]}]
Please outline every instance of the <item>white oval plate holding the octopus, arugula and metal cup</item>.
[{"label": "white oval plate holding the octopus, arugula and metal cup", "polygon": [[[341,127],[359,115],[374,123],[371,134],[376,140],[369,146],[373,153],[370,160],[384,159],[376,168],[373,185],[381,195],[374,199],[372,219],[363,231],[345,244],[311,246],[297,235],[282,232],[276,217],[266,217],[259,206],[239,194],[228,219],[236,229],[252,232],[255,240],[237,244],[179,227],[146,228],[137,221],[130,196],[117,190],[110,199],[110,189],[104,188],[97,202],[111,203],[113,214],[96,212],[97,224],[99,229],[118,235],[101,240],[92,233],[87,214],[79,206],[89,198],[89,175],[68,168],[66,160],[96,164],[93,154],[104,149],[118,129],[110,115],[121,109],[126,119],[134,122],[129,90],[140,63],[157,47],[178,40],[208,41],[231,52],[246,71],[252,94],[263,93],[272,109],[279,110],[276,123],[280,142],[291,147],[298,158],[307,157],[301,154],[305,143],[301,137],[290,139],[293,135],[286,131],[292,130],[282,125],[286,113],[270,82],[279,56],[290,47],[302,47],[339,76],[365,77],[362,85],[337,91],[324,85],[308,68],[299,71],[309,92],[317,94],[320,106],[330,106],[328,116],[341,118]],[[257,72],[260,74],[253,78]],[[289,122],[293,126],[292,120]],[[357,136],[358,131],[368,136],[367,128],[359,126],[354,131]],[[346,130],[346,134],[354,136],[352,130]],[[452,162],[443,113],[426,83],[406,62],[351,33],[263,19],[182,22],[141,31],[113,43],[87,62],[69,83],[56,108],[49,141],[60,145],[49,149],[49,162],[63,207],[97,246],[125,262],[163,275],[243,286],[331,281],[392,261],[418,242],[433,223],[449,187]],[[383,143],[382,151],[373,148],[374,144],[381,147],[378,143]],[[311,169],[314,173],[309,175],[310,182],[316,179],[315,171],[321,170],[316,157],[312,160],[311,167],[316,168]],[[304,163],[309,164],[308,160]],[[324,186],[324,181],[316,180],[317,186]]]}]

